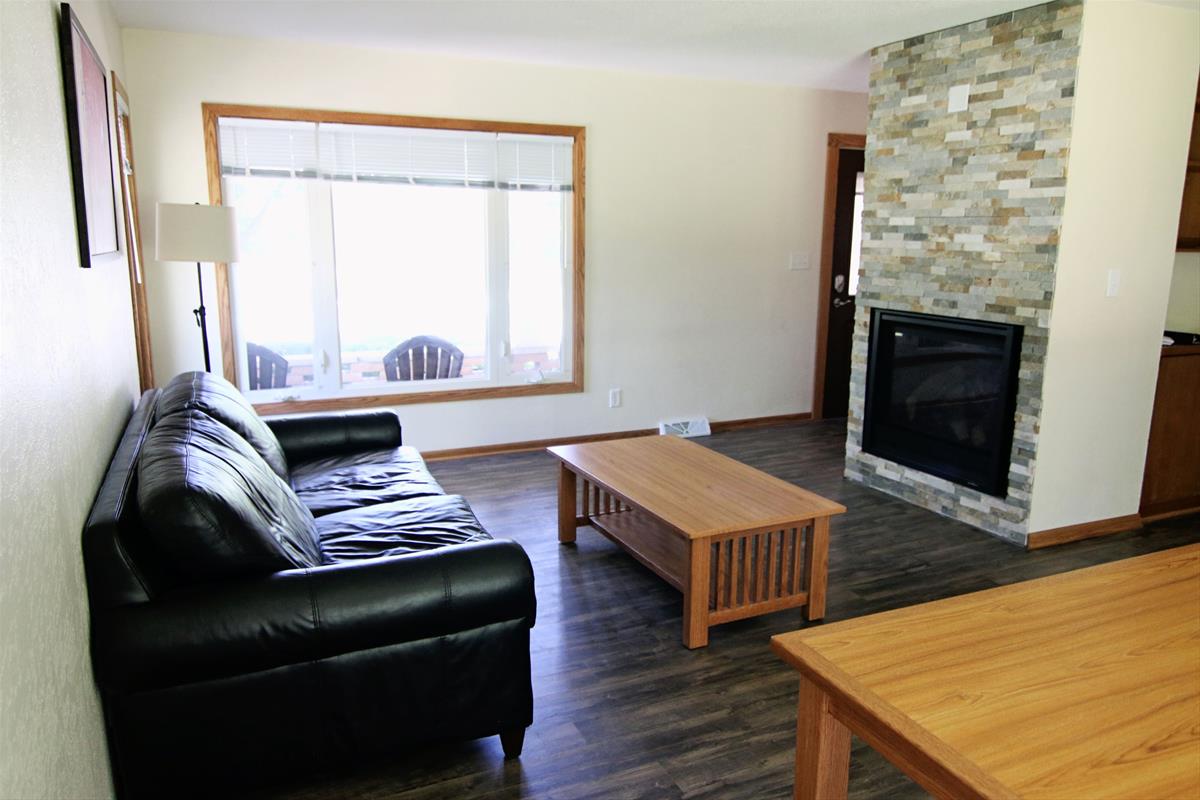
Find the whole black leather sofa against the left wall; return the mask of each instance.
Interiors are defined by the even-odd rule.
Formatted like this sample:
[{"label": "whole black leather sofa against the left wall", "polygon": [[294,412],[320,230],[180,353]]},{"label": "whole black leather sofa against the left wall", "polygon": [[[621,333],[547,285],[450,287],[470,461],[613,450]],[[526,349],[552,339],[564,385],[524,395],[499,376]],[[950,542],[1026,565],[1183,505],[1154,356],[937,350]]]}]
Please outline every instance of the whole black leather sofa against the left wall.
[{"label": "whole black leather sofa against the left wall", "polygon": [[259,419],[146,392],[83,531],[121,796],[228,795],[533,720],[533,571],[394,413]]}]

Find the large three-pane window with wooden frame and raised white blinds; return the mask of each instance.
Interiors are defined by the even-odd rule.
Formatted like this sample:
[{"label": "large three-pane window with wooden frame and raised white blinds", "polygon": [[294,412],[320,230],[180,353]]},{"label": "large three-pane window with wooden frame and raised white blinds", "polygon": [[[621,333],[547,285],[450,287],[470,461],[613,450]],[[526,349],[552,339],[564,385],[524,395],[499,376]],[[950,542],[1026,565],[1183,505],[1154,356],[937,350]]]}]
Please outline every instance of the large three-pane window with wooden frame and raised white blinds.
[{"label": "large three-pane window with wooden frame and raised white blinds", "polygon": [[226,377],[264,411],[581,391],[583,130],[204,107]]}]

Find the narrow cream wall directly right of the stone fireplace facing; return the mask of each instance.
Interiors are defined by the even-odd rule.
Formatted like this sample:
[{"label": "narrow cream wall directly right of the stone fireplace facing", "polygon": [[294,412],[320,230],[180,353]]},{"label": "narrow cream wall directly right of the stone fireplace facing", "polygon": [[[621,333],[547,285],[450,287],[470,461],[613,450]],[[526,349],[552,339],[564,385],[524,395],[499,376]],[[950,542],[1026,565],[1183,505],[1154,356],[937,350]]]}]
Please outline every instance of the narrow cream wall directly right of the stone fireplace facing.
[{"label": "narrow cream wall directly right of the stone fireplace facing", "polygon": [[[1084,10],[1030,530],[1136,513],[1166,317],[1200,13]],[[1120,294],[1105,296],[1109,270]]]}]

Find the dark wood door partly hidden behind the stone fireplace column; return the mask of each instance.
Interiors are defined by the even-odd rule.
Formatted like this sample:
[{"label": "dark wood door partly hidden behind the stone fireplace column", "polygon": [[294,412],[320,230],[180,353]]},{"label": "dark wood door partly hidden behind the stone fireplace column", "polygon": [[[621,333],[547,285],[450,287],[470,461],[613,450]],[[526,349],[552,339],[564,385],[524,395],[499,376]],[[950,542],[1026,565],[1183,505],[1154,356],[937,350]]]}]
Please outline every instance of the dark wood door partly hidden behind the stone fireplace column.
[{"label": "dark wood door partly hidden behind the stone fireplace column", "polygon": [[842,149],[838,157],[838,199],[834,210],[833,263],[827,303],[823,417],[846,416],[850,405],[850,347],[854,335],[854,296],[850,261],[853,252],[854,194],[863,172],[863,151]]}]

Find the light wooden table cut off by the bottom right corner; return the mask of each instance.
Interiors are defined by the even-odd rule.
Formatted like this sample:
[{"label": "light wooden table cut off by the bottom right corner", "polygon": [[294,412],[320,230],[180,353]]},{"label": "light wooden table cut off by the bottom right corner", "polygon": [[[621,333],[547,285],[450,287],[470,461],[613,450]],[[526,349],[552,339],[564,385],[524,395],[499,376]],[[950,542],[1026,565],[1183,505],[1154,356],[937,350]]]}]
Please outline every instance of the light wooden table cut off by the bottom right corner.
[{"label": "light wooden table cut off by the bottom right corner", "polygon": [[856,734],[938,798],[1200,798],[1200,545],[782,633],[796,798]]}]

